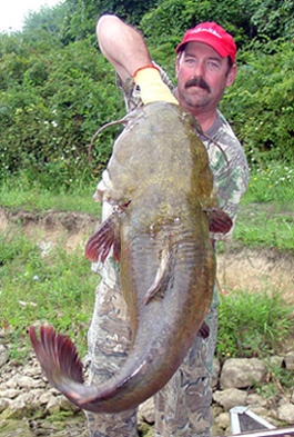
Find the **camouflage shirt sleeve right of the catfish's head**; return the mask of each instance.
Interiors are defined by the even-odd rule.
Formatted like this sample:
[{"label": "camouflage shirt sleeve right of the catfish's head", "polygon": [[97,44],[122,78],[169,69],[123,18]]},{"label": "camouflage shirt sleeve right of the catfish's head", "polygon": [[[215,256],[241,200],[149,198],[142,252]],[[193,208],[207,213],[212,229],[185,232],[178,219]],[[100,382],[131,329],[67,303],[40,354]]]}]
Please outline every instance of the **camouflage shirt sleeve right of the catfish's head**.
[{"label": "camouflage shirt sleeve right of the catfish's head", "polygon": [[[219,207],[235,222],[240,200],[249,185],[249,166],[244,150],[225,118],[219,112],[219,128],[213,140],[204,139],[213,172]],[[225,236],[214,234],[216,240],[231,239],[233,228]]]}]

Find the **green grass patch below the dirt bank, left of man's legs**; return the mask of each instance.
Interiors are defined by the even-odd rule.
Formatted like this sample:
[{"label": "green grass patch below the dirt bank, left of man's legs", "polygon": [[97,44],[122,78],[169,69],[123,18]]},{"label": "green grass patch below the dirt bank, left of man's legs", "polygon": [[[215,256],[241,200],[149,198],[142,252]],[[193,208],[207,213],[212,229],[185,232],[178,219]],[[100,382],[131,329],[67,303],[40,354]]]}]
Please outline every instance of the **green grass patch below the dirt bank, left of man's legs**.
[{"label": "green grass patch below the dirt bank, left of man's legs", "polygon": [[19,229],[0,235],[0,326],[11,331],[11,357],[23,358],[34,322],[52,324],[83,354],[99,282],[83,250],[68,254],[60,244],[44,256]]}]

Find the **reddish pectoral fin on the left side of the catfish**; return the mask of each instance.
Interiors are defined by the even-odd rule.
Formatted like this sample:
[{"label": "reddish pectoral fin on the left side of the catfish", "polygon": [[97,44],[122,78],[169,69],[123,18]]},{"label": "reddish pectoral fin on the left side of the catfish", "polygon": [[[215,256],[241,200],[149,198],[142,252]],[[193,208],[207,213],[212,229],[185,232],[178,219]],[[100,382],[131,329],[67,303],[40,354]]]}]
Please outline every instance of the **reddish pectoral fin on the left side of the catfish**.
[{"label": "reddish pectoral fin on the left side of the catfish", "polygon": [[119,262],[121,255],[119,212],[114,211],[89,238],[84,256],[89,261],[104,262],[113,247],[113,260]]}]

